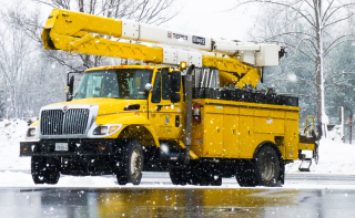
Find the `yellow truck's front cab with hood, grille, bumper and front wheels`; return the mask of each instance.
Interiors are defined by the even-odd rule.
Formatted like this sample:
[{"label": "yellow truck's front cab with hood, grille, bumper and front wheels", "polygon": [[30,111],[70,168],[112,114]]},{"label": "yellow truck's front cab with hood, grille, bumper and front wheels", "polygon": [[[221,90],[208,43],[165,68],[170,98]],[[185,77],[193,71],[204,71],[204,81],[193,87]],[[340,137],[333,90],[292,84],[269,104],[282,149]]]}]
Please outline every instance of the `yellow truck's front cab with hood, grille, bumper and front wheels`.
[{"label": "yellow truck's front cab with hood, grille, bumper and front wheels", "polygon": [[[163,170],[172,164],[169,155],[175,165],[181,164],[184,153],[173,152],[182,148],[181,80],[180,70],[169,66],[87,70],[67,102],[41,108],[39,122],[28,129],[28,142],[20,144],[20,155],[32,156],[34,183],[55,184],[59,173],[103,175],[134,172],[135,167],[140,168],[139,179],[119,179],[135,184],[143,168]],[[70,80],[68,84],[73,90]],[[128,144],[134,144],[136,152],[124,150]],[[47,172],[52,173],[36,172],[45,164],[51,164]]]}]

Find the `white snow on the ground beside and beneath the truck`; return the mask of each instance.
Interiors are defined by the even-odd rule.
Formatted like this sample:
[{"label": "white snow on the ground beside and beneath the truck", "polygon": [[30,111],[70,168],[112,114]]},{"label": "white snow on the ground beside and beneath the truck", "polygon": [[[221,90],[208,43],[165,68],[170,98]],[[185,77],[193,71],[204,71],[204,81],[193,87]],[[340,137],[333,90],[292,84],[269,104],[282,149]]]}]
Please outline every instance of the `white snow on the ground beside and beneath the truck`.
[{"label": "white snow on the ground beside and beneath the truck", "polygon": [[[19,157],[19,142],[24,138],[27,125],[27,122],[21,120],[6,120],[0,122],[0,187],[34,186],[31,175],[22,172],[30,169],[30,158]],[[355,145],[323,139],[320,146],[320,162],[317,165],[313,163],[311,172],[307,174],[355,175],[354,155]],[[286,174],[297,174],[300,164],[301,162],[296,160],[293,164],[286,165]],[[145,179],[143,179],[143,181]],[[153,186],[156,185],[160,184]],[[111,187],[118,185],[113,176],[63,176],[57,185],[57,187],[77,186]]]}]

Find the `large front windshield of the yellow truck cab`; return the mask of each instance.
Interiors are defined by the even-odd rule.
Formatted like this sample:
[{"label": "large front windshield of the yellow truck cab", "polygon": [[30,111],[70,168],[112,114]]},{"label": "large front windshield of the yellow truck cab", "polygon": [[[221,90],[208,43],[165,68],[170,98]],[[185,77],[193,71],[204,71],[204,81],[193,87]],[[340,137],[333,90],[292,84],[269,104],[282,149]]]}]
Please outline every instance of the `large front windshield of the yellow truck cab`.
[{"label": "large front windshield of the yellow truck cab", "polygon": [[91,71],[83,75],[74,100],[113,97],[145,100],[145,84],[151,83],[152,70],[119,69]]}]

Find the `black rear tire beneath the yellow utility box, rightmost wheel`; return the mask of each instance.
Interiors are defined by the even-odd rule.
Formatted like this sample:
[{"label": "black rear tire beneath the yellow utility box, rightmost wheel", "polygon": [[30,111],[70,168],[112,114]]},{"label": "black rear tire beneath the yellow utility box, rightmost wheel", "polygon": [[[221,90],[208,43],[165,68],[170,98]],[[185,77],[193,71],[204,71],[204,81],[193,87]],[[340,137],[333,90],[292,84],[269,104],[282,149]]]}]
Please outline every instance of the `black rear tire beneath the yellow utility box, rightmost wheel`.
[{"label": "black rear tire beneath the yellow utility box, rightmost wheel", "polygon": [[268,145],[260,148],[255,156],[256,178],[261,186],[276,186],[280,177],[280,158]]}]

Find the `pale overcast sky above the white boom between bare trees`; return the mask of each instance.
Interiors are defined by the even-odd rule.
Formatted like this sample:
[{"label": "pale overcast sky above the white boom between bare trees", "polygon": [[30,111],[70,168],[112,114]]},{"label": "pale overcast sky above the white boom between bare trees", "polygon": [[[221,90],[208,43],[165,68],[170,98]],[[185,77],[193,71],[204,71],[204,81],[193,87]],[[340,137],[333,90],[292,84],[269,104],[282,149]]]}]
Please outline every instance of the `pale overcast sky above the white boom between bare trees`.
[{"label": "pale overcast sky above the white boom between bare trees", "polygon": [[[1,4],[20,1],[24,9],[34,10],[31,0],[0,0]],[[201,34],[201,37],[246,40],[245,33],[253,27],[257,10],[243,8],[230,10],[233,0],[175,0],[176,7],[182,7],[180,13],[163,27]],[[41,7],[42,18],[45,19],[52,8]],[[43,23],[44,24],[44,23]]]}]

